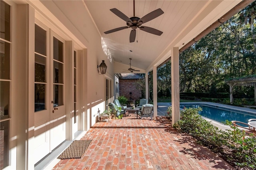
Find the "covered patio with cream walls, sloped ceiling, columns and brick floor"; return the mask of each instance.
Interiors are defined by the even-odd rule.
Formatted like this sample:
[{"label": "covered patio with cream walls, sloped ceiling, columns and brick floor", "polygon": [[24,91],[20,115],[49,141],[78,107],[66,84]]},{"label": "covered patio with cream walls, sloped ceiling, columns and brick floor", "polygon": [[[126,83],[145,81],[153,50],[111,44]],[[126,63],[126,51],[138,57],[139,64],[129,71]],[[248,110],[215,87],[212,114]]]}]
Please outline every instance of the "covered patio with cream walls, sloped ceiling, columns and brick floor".
[{"label": "covered patio with cream walls, sloped ceiling, columns and brick floor", "polygon": [[[90,134],[85,138],[94,138],[86,155],[89,159],[85,164],[81,162],[85,157],[65,160],[56,169],[64,165],[65,169],[88,168],[88,165],[99,169],[229,168],[226,162],[187,140],[187,136],[170,133],[170,128],[160,122],[132,120],[135,124],[131,125],[128,119],[108,124],[97,121],[99,113],[118,97],[116,74],[130,73],[130,68],[146,74],[146,99],[149,98],[148,73],[153,72],[156,119],[157,68],[168,59],[172,63],[172,125],[179,121],[179,53],[253,0],[0,2],[0,107],[4,109],[0,119],[4,129],[1,169],[32,170],[45,156],[63,142],[77,138],[80,132]],[[111,9],[122,14],[117,16]],[[150,20],[144,18],[140,22],[143,27],[129,24],[129,18],[140,21],[138,18],[158,9],[164,13],[151,16]],[[128,23],[120,16],[128,18]],[[105,34],[120,27],[128,29]],[[163,33],[150,34],[154,29]],[[134,42],[129,42],[131,33]],[[100,72],[101,63],[106,64],[104,73]],[[148,145],[144,146],[147,140]],[[149,153],[152,158],[148,157]],[[112,158],[120,162],[110,164]]]}]

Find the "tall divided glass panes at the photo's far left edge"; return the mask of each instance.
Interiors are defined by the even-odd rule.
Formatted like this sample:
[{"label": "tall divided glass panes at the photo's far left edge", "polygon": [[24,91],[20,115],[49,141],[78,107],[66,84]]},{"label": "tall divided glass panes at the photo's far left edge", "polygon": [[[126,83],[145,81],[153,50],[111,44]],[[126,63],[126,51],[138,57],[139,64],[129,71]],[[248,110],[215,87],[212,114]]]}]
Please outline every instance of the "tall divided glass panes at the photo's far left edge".
[{"label": "tall divided glass panes at the photo's far left edge", "polygon": [[0,169],[10,164],[11,7],[0,1]]}]

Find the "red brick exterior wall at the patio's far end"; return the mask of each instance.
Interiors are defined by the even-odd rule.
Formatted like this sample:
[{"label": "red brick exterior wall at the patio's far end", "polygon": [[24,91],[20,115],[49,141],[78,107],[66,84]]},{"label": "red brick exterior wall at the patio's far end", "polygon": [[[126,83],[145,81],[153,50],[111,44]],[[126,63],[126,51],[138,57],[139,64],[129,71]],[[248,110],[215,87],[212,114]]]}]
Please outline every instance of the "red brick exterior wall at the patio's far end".
[{"label": "red brick exterior wall at the patio's far end", "polygon": [[[119,92],[120,96],[125,96],[130,100],[137,100],[141,98],[141,90],[136,89],[136,81],[137,79],[119,79]],[[132,92],[132,95],[130,95]]]}]

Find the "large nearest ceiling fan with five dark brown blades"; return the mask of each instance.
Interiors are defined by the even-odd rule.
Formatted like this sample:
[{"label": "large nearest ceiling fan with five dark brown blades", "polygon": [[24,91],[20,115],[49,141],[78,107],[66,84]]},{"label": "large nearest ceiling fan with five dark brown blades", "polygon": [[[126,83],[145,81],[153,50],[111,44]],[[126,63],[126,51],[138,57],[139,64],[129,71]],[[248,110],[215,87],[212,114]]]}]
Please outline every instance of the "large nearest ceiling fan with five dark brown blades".
[{"label": "large nearest ceiling fan with five dark brown blades", "polygon": [[147,26],[141,26],[142,24],[153,20],[154,18],[164,14],[164,12],[158,8],[157,10],[154,10],[148,14],[146,14],[145,16],[143,16],[142,18],[138,18],[135,16],[135,6],[134,6],[134,1],[133,1],[133,17],[128,18],[128,16],[126,16],[125,14],[123,14],[121,11],[119,11],[116,8],[112,8],[110,9],[111,12],[113,12],[114,14],[116,14],[119,18],[121,18],[122,20],[126,21],[126,25],[124,27],[119,27],[119,28],[114,28],[112,30],[106,31],[104,32],[105,34],[110,34],[112,32],[116,32],[116,31],[120,31],[120,30],[124,30],[127,28],[132,28],[131,32],[130,32],[130,43],[135,41],[136,38],[136,29],[140,28],[140,30],[157,35],[157,36],[161,36],[162,35],[162,31],[156,30],[154,28],[151,27],[147,27]]}]

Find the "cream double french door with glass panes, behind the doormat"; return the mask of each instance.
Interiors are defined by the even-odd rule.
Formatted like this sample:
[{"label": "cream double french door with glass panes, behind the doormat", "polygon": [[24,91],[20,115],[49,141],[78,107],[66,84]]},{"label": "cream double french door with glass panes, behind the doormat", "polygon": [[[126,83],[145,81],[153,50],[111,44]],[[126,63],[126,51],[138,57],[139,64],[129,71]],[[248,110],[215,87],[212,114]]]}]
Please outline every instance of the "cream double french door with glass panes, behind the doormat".
[{"label": "cream double french door with glass panes, behind the doormat", "polygon": [[66,139],[65,41],[35,25],[35,162]]}]

